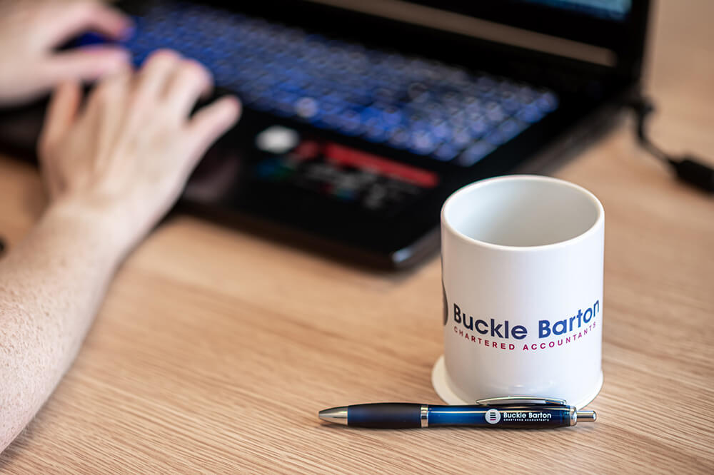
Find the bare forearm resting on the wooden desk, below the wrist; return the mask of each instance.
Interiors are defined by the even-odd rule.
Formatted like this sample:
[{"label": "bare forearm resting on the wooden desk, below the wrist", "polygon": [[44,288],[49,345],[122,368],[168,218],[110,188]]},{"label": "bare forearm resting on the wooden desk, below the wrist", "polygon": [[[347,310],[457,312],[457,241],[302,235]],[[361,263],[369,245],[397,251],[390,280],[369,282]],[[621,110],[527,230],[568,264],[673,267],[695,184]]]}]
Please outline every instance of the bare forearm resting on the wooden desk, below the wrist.
[{"label": "bare forearm resting on the wooden desk, below the wrist", "polygon": [[124,255],[105,220],[54,205],[0,260],[0,451],[69,369]]}]

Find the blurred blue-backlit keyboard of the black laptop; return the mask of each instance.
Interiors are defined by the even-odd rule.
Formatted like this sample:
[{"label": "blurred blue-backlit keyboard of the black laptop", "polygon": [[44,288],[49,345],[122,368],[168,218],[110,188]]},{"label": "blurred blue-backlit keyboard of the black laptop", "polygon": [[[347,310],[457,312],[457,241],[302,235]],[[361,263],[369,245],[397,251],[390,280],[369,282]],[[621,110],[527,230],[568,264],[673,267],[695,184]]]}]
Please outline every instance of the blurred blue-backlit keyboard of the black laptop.
[{"label": "blurred blue-backlit keyboard of the black laptop", "polygon": [[553,91],[188,2],[156,4],[125,46],[201,61],[246,106],[471,166],[558,107]]}]

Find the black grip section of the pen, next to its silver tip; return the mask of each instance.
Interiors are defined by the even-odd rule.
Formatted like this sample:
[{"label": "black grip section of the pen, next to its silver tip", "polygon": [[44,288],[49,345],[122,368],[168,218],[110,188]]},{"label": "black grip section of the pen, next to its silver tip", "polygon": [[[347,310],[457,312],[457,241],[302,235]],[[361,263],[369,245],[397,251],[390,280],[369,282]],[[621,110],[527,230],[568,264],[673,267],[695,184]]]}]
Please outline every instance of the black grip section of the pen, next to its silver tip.
[{"label": "black grip section of the pen, next to its silver tip", "polygon": [[356,404],[347,408],[347,425],[373,429],[421,427],[421,404],[405,402]]}]

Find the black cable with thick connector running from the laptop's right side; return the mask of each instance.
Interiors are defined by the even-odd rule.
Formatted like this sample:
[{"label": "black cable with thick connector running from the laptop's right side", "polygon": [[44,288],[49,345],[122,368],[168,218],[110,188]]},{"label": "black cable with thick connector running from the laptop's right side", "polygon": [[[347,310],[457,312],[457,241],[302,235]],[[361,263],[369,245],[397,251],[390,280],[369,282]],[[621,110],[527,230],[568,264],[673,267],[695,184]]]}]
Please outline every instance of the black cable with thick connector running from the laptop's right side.
[{"label": "black cable with thick connector running from the laptop's right side", "polygon": [[649,98],[637,96],[629,102],[637,115],[637,139],[640,145],[651,153],[655,158],[668,163],[674,168],[677,177],[689,185],[693,185],[700,190],[714,193],[714,167],[703,163],[702,160],[693,155],[683,155],[673,157],[655,145],[647,136],[646,122],[650,113],[655,107]]}]

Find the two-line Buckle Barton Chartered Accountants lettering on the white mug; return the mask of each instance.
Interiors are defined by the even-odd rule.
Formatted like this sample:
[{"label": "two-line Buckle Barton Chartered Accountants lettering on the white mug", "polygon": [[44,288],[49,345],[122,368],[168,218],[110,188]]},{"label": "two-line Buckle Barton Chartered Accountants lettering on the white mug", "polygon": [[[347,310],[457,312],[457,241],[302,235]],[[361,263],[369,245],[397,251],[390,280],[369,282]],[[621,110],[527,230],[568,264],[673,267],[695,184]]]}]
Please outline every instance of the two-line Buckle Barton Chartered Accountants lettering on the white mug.
[{"label": "two-line Buckle Barton Chartered Accountants lettering on the white mug", "polygon": [[592,332],[598,325],[600,300],[595,300],[590,307],[578,309],[577,313],[573,312],[572,316],[562,320],[538,320],[535,329],[511,320],[474,317],[456,303],[452,310],[453,332],[463,337],[464,342],[493,349],[531,352],[562,347],[587,337],[588,332]]}]

